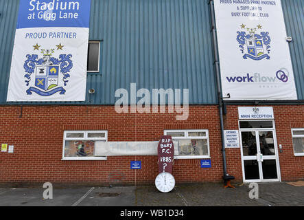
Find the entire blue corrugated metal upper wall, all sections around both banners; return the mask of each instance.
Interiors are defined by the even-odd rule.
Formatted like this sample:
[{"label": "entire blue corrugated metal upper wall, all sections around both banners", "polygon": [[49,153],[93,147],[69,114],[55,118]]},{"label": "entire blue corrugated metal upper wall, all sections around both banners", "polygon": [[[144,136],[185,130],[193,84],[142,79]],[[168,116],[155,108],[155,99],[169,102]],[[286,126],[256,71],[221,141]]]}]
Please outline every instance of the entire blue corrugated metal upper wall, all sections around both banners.
[{"label": "entire blue corrugated metal upper wall, all sections around both banners", "polygon": [[[296,87],[304,99],[304,0],[282,3],[294,39]],[[7,104],[18,5],[19,0],[0,0],[0,104]],[[115,104],[116,89],[129,90],[130,83],[150,91],[189,89],[190,104],[216,104],[209,18],[207,0],[92,0],[90,40],[103,40],[100,73],[87,78],[87,89],[96,92],[86,102],[55,104]]]}]

